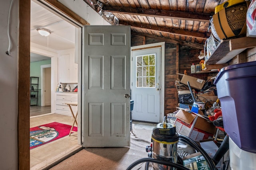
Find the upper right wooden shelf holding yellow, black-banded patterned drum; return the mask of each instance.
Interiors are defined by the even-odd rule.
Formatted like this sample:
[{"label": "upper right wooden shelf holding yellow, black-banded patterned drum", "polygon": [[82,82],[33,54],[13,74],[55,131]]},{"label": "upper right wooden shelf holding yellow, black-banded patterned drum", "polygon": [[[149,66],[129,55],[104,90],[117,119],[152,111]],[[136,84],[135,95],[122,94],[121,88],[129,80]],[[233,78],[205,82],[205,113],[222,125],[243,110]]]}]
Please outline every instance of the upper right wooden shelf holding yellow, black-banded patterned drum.
[{"label": "upper right wooden shelf holding yellow, black-banded patterned drum", "polygon": [[248,20],[252,17],[250,3],[244,0],[227,0],[216,6],[215,14],[210,20],[211,35],[205,43],[207,64],[227,63],[245,49],[256,47],[256,39],[254,36],[250,37],[250,29],[247,27]]}]

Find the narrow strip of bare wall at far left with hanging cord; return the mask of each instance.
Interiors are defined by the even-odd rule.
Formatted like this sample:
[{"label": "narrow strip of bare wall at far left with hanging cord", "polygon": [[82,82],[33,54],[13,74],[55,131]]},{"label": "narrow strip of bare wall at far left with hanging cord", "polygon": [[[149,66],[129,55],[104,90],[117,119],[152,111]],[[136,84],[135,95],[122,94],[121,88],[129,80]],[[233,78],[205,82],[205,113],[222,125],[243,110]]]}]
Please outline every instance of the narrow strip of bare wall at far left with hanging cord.
[{"label": "narrow strip of bare wall at far left with hanging cord", "polygon": [[13,0],[10,15],[8,51],[8,14],[11,0],[0,2],[0,169],[18,169],[18,0]]}]

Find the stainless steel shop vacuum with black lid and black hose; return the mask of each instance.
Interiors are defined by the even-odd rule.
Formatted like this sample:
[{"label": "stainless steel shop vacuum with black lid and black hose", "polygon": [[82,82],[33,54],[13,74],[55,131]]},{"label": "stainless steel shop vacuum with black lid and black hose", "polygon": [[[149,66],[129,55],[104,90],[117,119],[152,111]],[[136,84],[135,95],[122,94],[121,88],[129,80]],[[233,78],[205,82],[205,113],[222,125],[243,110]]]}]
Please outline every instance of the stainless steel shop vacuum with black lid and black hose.
[{"label": "stainless steel shop vacuum with black lid and black hose", "polygon": [[[136,165],[146,162],[145,170],[149,170],[149,163],[152,162],[150,170],[190,170],[183,166],[182,158],[178,155],[178,142],[184,142],[194,147],[206,159],[210,170],[217,170],[214,161],[208,154],[192,139],[178,135],[175,125],[166,122],[166,117],[162,123],[158,123],[152,131],[152,145],[146,147],[148,158],[142,158],[130,166],[126,170],[131,170]],[[220,158],[223,155],[220,156]],[[219,159],[220,160],[220,159]]]}]

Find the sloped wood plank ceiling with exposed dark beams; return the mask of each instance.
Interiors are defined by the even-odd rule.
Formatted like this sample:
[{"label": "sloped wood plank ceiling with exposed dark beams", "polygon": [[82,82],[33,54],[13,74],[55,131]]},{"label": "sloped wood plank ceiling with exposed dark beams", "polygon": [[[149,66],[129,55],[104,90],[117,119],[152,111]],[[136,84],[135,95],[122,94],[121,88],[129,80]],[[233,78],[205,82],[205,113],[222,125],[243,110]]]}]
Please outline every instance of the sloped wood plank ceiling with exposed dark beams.
[{"label": "sloped wood plank ceiling with exposed dark beams", "polygon": [[99,1],[84,0],[103,16],[113,14],[117,25],[131,25],[132,35],[203,49],[214,9],[226,0]]}]

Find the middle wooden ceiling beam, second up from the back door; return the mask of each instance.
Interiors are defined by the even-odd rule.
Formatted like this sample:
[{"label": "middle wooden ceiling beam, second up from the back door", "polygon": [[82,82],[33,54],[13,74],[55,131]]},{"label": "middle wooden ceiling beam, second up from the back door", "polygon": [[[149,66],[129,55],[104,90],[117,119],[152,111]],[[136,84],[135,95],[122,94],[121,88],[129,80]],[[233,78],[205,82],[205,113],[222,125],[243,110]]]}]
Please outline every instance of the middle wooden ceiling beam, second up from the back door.
[{"label": "middle wooden ceiling beam, second up from the back door", "polygon": [[156,25],[145,25],[145,24],[139,24],[139,23],[126,22],[126,21],[119,21],[119,24],[131,25],[131,27],[138,27],[140,29],[154,30],[158,32],[166,32],[174,35],[182,35],[182,36],[194,37],[194,38],[200,38],[200,39],[207,39],[208,37],[210,37],[210,33],[204,34],[204,33],[199,33],[195,31],[183,30],[183,29],[159,27]]}]

